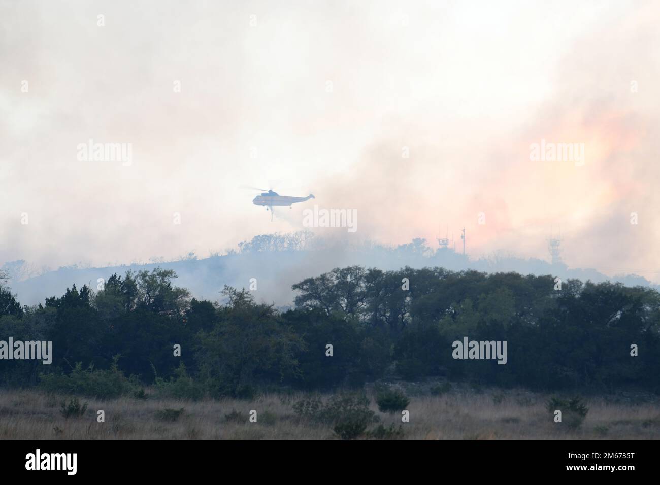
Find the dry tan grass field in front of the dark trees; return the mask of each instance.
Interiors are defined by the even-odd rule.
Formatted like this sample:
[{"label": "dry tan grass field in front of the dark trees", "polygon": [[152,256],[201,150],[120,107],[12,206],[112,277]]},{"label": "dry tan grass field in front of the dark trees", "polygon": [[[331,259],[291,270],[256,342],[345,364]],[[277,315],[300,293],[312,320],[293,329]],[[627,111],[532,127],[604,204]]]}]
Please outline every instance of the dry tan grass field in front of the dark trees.
[{"label": "dry tan grass field in front of the dark trees", "polygon": [[[60,412],[63,396],[0,391],[0,439],[337,439],[331,426],[296,416],[292,404],[302,397],[269,394],[251,401],[198,402],[81,398],[88,403],[84,415],[65,419]],[[410,397],[404,439],[660,438],[660,403],[652,397],[585,399],[589,412],[574,431],[552,421],[545,408],[549,395],[463,389]],[[371,398],[370,406],[385,426],[401,424],[401,414],[378,412]],[[158,411],[166,408],[184,410],[174,422],[159,420]],[[98,410],[105,412],[103,423],[96,420]],[[240,416],[226,418],[234,410]],[[250,410],[257,411],[256,423],[248,421]]]}]

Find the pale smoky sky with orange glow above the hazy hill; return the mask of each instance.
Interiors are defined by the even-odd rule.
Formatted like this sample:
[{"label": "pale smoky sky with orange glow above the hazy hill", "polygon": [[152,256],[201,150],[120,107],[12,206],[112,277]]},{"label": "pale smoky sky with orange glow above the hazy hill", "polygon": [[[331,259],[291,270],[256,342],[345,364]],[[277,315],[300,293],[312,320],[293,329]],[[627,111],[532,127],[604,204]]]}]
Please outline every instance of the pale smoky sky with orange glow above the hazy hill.
[{"label": "pale smoky sky with orange glow above the hazy hill", "polygon": [[[319,234],[465,226],[472,257],[548,259],[560,228],[568,265],[658,281],[658,18],[655,1],[0,0],[0,265],[203,257],[317,204],[358,211],[354,234]],[[130,143],[131,165],[79,160],[88,139]],[[583,143],[583,166],[531,160],[542,139]],[[271,222],[242,185],[316,199]]]}]

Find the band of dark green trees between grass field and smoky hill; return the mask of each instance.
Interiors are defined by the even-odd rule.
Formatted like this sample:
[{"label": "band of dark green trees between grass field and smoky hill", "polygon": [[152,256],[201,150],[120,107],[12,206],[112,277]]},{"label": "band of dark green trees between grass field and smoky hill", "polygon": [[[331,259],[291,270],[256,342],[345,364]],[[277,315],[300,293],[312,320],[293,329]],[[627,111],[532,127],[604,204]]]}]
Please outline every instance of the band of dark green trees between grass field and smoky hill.
[{"label": "band of dark green trees between grass field and smoky hill", "polygon": [[[0,286],[0,340],[53,342],[50,366],[0,360],[0,385],[113,372],[211,397],[432,377],[660,392],[660,294],[651,288],[568,280],[558,290],[550,275],[350,266],[294,284],[295,307],[279,311],[259,292],[227,286],[220,302],[197,300],[175,278],[114,274],[102,288],[74,285],[32,307]],[[506,340],[506,365],[456,360],[452,342],[464,337]]]}]

